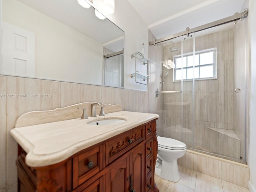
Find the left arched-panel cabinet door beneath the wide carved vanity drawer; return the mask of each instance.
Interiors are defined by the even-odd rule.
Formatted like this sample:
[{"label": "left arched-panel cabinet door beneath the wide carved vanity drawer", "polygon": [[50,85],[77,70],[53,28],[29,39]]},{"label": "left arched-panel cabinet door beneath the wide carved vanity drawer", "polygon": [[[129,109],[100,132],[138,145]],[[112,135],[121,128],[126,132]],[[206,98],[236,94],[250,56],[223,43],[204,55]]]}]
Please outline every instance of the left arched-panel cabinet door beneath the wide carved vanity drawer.
[{"label": "left arched-panel cabinet door beneath the wide carved vanity drawer", "polygon": [[108,175],[109,179],[106,180],[106,192],[129,191],[129,167],[129,156],[114,163]]}]

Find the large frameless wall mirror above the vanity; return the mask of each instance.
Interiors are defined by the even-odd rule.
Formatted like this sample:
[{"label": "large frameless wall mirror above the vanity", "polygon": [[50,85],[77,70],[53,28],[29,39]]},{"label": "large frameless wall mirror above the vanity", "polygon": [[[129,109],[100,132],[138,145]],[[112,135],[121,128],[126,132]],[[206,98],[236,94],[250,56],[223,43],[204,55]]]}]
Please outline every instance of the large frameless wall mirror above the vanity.
[{"label": "large frameless wall mirror above the vanity", "polygon": [[2,0],[2,28],[1,74],[124,86],[124,32],[92,7]]}]

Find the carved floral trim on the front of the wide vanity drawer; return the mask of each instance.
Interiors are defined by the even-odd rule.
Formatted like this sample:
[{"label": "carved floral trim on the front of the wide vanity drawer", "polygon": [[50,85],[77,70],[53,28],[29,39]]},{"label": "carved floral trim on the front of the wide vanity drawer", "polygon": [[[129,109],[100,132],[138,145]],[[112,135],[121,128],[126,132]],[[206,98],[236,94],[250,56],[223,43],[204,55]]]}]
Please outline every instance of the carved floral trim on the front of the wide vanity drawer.
[{"label": "carved floral trim on the front of the wide vanity drawer", "polygon": [[112,149],[109,152],[109,156],[113,156],[114,154],[118,153],[119,151],[123,150],[130,144],[134,143],[135,141],[139,140],[142,138],[142,135],[139,133],[135,133],[131,137],[128,136],[124,140],[122,140],[122,144],[120,142],[117,143],[116,148],[114,149],[114,146],[112,146]]}]

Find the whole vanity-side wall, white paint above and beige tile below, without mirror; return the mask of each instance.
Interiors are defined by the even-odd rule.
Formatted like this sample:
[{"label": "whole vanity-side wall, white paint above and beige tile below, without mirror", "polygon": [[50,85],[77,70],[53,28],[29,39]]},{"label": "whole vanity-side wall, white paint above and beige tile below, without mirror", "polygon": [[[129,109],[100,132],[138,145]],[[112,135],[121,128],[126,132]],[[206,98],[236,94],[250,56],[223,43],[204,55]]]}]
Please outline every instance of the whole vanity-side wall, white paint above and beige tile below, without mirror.
[{"label": "whole vanity-side wall, white paint above and beige tile below, without mirror", "polygon": [[[102,4],[102,0],[97,0],[95,3]],[[115,13],[106,14],[106,16],[125,32],[124,86],[127,89],[0,75],[0,192],[17,191],[15,165],[17,143],[10,136],[9,131],[20,115],[29,111],[52,110],[88,101],[121,104],[124,110],[149,112],[149,93],[145,91],[147,86],[136,84],[129,76],[135,71],[134,60],[130,55],[141,50],[142,43],[145,43],[147,56],[147,25],[126,0],[116,1]],[[154,83],[154,78],[151,81]],[[9,98],[1,97],[2,94],[51,94],[52,96],[50,98]]]}]

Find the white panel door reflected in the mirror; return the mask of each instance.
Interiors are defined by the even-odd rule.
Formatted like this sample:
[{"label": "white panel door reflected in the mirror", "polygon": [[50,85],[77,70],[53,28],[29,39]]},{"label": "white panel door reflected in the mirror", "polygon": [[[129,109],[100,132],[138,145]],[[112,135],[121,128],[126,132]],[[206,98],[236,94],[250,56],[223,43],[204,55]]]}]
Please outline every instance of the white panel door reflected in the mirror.
[{"label": "white panel door reflected in the mirror", "polygon": [[35,76],[35,34],[2,22],[2,73]]}]

